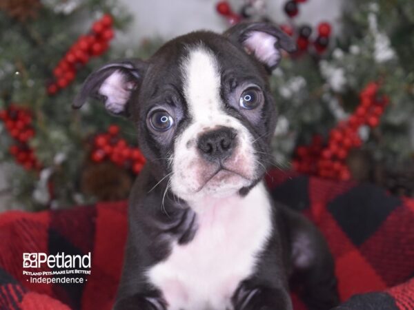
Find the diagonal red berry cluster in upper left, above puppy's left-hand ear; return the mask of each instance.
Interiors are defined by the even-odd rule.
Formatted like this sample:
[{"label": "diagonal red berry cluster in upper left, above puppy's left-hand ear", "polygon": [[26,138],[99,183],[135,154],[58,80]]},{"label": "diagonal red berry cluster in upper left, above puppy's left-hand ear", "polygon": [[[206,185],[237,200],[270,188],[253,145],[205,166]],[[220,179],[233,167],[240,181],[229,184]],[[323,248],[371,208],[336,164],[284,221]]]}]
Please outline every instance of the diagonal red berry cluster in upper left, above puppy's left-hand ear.
[{"label": "diagonal red berry cluster in upper left, above puppy's left-hand ear", "polygon": [[48,85],[48,94],[56,94],[65,88],[76,76],[77,69],[88,63],[90,57],[99,56],[108,50],[108,42],[114,37],[113,19],[104,14],[95,21],[89,34],[79,37],[53,70],[54,81]]}]

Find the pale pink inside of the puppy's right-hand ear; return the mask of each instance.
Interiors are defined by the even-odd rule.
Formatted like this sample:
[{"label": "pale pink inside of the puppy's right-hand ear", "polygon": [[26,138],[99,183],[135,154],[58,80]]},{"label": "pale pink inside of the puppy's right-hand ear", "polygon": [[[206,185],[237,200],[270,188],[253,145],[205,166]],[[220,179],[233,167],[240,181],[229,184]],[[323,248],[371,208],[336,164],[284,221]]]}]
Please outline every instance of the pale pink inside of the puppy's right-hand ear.
[{"label": "pale pink inside of the puppy's right-hand ear", "polygon": [[280,60],[280,52],[275,48],[277,38],[265,32],[253,31],[243,42],[248,52],[253,52],[259,61],[269,67],[277,65]]}]

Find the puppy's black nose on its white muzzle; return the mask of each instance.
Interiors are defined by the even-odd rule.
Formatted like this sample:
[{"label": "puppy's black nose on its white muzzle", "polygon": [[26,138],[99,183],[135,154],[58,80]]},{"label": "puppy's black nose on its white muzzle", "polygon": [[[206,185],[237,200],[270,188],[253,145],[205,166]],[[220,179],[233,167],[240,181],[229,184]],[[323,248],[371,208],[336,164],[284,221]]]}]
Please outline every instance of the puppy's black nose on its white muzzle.
[{"label": "puppy's black nose on its white muzzle", "polygon": [[228,127],[206,132],[199,137],[197,147],[201,156],[208,161],[224,161],[235,148],[236,133]]}]

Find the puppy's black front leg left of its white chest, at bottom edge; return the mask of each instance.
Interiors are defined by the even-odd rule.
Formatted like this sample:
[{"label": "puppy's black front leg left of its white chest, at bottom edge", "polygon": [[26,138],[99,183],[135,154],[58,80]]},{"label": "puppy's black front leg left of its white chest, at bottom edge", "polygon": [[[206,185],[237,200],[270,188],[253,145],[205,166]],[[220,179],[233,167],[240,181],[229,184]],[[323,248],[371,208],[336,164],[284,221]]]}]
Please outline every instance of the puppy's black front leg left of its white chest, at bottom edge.
[{"label": "puppy's black front leg left of its white chest, at bottom edge", "polygon": [[148,297],[141,294],[126,296],[115,302],[112,310],[166,310],[166,304],[161,298]]}]

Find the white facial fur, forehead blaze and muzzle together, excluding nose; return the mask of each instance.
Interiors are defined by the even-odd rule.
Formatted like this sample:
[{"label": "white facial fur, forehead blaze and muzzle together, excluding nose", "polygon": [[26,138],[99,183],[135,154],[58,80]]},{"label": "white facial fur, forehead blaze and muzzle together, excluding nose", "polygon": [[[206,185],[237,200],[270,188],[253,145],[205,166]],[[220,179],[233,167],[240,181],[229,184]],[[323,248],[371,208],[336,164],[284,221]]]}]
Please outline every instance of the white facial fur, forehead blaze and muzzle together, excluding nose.
[{"label": "white facial fur, forehead blaze and muzzle together, excluding nose", "polygon": [[[251,145],[253,138],[237,118],[224,112],[219,94],[219,64],[213,52],[202,45],[193,48],[181,64],[181,70],[192,122],[175,142],[170,179],[172,192],[187,201],[197,201],[206,195],[223,197],[235,194],[255,178],[257,159]],[[237,132],[237,148],[225,165],[238,174],[219,173],[204,186],[215,166],[201,158],[197,138],[218,126],[231,127]]]}]

